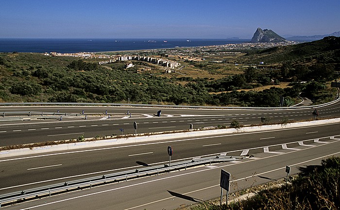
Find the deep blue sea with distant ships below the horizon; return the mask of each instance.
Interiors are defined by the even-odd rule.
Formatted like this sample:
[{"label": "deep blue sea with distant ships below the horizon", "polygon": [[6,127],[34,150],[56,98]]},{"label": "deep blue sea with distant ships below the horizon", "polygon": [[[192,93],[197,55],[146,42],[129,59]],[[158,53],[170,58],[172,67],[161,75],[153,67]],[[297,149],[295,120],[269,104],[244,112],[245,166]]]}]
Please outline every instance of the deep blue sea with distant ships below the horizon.
[{"label": "deep blue sea with distant ships below the horizon", "polygon": [[239,44],[250,39],[33,39],[0,38],[4,53],[111,52]]}]

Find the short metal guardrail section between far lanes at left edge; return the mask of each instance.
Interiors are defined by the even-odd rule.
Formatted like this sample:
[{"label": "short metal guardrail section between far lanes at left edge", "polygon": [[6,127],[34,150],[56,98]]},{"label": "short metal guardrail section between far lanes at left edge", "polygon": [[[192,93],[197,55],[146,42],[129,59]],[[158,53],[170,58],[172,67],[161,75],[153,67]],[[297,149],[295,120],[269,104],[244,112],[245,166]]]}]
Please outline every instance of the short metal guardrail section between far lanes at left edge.
[{"label": "short metal guardrail section between far lanes at left edge", "polygon": [[[56,116],[56,117],[62,117],[62,116],[68,116],[68,117],[85,117],[85,114],[77,114],[77,113],[61,113],[61,112],[43,112],[43,111],[6,111],[6,112],[0,112],[0,116],[6,117],[6,116],[18,116],[18,115],[27,115],[29,117],[32,116],[40,116],[40,118],[48,117],[48,116]],[[45,115],[45,116],[44,116]],[[0,118],[1,119],[1,118]],[[10,118],[8,118],[10,119]],[[15,118],[13,118],[15,119]],[[17,119],[18,120],[18,119]]]}]

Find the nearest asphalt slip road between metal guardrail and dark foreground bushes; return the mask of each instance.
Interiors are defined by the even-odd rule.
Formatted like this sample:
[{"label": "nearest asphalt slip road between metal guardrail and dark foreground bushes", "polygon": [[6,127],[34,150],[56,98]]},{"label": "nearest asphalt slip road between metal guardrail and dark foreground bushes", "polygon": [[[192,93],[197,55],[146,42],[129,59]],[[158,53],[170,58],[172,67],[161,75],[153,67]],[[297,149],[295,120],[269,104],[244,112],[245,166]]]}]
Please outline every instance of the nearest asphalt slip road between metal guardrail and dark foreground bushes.
[{"label": "nearest asphalt slip road between metal guardrail and dark foreground bushes", "polygon": [[[314,128],[314,132],[318,131],[318,133],[312,133],[313,136],[319,134],[321,137],[328,135],[331,130],[339,129],[339,125],[319,127],[319,129]],[[325,132],[325,130],[327,130],[327,132]],[[305,132],[305,138],[296,137],[294,140],[309,139],[306,131],[307,130],[304,129],[301,131],[295,130],[294,133],[301,133],[301,136],[303,136],[302,133]],[[289,132],[291,131],[279,133],[270,132],[270,136],[280,135],[284,137],[287,135],[286,133]],[[253,140],[261,137],[259,134],[250,136],[252,136]],[[315,138],[315,136],[312,138]],[[289,142],[289,140],[287,141]],[[263,153],[256,150],[257,152],[254,153],[255,156],[253,158],[65,193],[15,206],[4,207],[3,209],[176,209],[180,206],[194,204],[200,199],[207,200],[219,197],[221,193],[221,188],[219,187],[221,169],[231,173],[231,192],[234,192],[250,187],[253,184],[257,185],[268,182],[270,179],[285,177],[286,165],[291,167],[291,174],[295,174],[309,166],[320,164],[323,158],[333,155],[339,156],[340,139],[331,140],[324,138],[320,139],[320,141],[322,142],[305,142],[306,145],[309,146],[289,144],[288,147],[290,149],[270,148],[270,151],[275,153]],[[220,151],[219,149],[217,150]]]}]

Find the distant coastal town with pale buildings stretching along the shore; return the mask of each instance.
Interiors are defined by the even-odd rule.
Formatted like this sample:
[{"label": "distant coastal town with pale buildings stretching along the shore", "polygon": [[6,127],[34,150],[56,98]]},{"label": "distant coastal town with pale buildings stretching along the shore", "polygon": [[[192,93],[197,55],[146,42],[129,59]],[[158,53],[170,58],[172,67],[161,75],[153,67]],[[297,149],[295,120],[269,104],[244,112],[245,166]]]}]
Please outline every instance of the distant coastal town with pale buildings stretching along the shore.
[{"label": "distant coastal town with pale buildings stretching along the shore", "polygon": [[[181,63],[185,61],[204,61],[207,56],[214,55],[236,55],[245,50],[251,49],[267,49],[277,46],[286,46],[298,44],[296,41],[286,41],[279,43],[240,43],[240,44],[225,44],[199,47],[176,47],[166,49],[150,49],[150,50],[136,50],[126,52],[80,52],[80,53],[44,53],[46,56],[69,56],[79,57],[84,59],[96,59],[99,65],[115,63],[117,61],[125,61],[125,69],[134,67],[132,61],[142,61],[144,63],[151,63],[164,67],[167,73],[171,70],[183,68]],[[220,63],[222,60],[213,60],[211,62]],[[151,70],[150,67],[143,67],[136,70],[136,72]]]}]

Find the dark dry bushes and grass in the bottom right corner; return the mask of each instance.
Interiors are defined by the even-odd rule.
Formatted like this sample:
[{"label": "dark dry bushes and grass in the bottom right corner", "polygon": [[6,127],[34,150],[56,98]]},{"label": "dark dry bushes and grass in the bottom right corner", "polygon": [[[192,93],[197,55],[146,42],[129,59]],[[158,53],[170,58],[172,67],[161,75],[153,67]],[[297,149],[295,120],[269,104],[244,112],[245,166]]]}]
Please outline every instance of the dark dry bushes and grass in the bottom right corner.
[{"label": "dark dry bushes and grass in the bottom right corner", "polygon": [[340,157],[302,172],[282,187],[262,190],[254,197],[229,205],[204,204],[192,210],[337,210],[340,209]]}]

